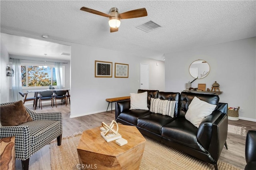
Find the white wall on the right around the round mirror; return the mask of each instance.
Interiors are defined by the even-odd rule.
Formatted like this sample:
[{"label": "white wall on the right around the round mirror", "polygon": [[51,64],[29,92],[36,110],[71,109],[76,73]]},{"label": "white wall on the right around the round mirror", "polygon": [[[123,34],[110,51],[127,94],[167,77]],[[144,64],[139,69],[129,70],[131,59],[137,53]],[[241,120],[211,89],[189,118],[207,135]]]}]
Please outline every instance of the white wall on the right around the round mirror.
[{"label": "white wall on the right around the round mirror", "polygon": [[242,108],[240,119],[256,121],[256,38],[248,38],[233,42],[210,45],[165,55],[165,89],[181,92],[185,83],[192,81],[188,67],[197,60],[206,60],[210,65],[210,73],[198,83],[206,83],[211,89],[214,81],[220,84],[223,91],[220,102],[229,107]]}]

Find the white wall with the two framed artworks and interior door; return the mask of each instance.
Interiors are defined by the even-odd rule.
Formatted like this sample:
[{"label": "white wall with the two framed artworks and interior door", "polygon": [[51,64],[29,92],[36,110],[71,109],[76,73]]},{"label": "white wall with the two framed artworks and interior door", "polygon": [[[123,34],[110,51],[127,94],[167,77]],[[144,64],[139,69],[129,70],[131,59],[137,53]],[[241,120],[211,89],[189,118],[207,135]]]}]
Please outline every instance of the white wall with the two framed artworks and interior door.
[{"label": "white wall with the two framed artworks and interior door", "polygon": [[[137,93],[140,88],[140,63],[149,64],[150,89],[164,90],[162,61],[76,43],[71,44],[71,53],[70,117],[106,111],[108,102],[105,99]],[[113,77],[94,77],[95,60],[113,62]],[[114,78],[114,63],[129,64],[129,78]]]}]

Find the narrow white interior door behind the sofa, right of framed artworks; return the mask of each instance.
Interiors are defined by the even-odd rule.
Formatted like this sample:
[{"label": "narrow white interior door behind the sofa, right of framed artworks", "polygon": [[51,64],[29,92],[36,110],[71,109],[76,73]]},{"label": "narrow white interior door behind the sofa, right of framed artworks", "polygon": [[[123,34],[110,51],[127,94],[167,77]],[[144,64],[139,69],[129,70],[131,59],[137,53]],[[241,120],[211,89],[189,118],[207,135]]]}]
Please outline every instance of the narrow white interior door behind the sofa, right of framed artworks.
[{"label": "narrow white interior door behind the sofa, right of framed artworks", "polygon": [[149,89],[148,64],[140,63],[140,89]]}]

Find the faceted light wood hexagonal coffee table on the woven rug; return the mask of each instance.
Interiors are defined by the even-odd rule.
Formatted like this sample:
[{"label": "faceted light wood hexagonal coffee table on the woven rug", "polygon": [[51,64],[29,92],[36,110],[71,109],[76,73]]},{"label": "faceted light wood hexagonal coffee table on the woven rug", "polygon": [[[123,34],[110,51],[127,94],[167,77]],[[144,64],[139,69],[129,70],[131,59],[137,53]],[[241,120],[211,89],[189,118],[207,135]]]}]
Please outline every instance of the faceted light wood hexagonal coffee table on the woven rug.
[{"label": "faceted light wood hexagonal coffee table on the woven rug", "polygon": [[100,127],[85,130],[77,146],[81,166],[89,169],[139,169],[146,139],[134,126],[119,125],[118,133],[128,141],[119,146],[115,141],[106,142]]}]

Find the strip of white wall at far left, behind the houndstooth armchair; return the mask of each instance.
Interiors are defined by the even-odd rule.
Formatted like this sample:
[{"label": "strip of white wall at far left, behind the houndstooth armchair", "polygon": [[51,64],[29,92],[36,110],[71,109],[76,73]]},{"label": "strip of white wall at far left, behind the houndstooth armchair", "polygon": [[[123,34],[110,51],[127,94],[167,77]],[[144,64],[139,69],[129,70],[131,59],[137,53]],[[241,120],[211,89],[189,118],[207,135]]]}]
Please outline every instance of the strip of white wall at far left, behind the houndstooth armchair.
[{"label": "strip of white wall at far left, behind the houndstooth armchair", "polygon": [[1,40],[1,55],[0,55],[0,103],[10,101],[10,79],[12,77],[6,76],[6,64],[9,63],[9,53]]}]

